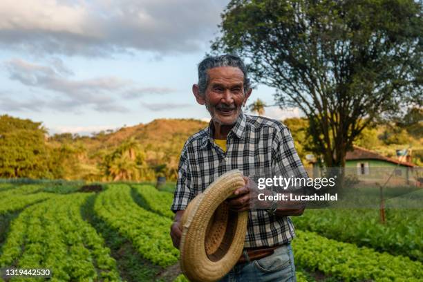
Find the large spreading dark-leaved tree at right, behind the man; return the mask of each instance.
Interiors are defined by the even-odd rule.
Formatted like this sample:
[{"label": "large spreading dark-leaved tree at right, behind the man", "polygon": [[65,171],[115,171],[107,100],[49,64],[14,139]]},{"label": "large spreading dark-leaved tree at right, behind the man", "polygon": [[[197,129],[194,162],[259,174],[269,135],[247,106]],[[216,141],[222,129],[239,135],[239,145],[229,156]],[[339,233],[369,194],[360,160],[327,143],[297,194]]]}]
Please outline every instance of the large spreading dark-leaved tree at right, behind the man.
[{"label": "large spreading dark-leaved tree at right, behind the man", "polygon": [[212,49],[249,59],[281,107],[303,111],[327,167],[377,118],[422,103],[422,3],[232,0],[222,19]]}]

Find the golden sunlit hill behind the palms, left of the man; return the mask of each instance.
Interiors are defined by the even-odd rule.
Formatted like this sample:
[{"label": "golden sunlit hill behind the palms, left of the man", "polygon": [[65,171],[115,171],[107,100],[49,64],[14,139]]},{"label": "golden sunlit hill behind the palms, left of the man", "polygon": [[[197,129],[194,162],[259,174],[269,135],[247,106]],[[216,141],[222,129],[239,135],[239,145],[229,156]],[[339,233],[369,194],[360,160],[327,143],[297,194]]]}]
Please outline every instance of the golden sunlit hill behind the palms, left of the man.
[{"label": "golden sunlit hill behind the palms, left of the man", "polygon": [[104,180],[102,175],[106,171],[102,171],[102,164],[105,158],[113,153],[120,154],[118,158],[125,158],[124,152],[118,151],[131,140],[136,147],[133,160],[138,160],[138,168],[144,166],[140,178],[152,180],[158,173],[162,173],[175,180],[180,151],[185,141],[207,125],[207,122],[193,119],[158,119],[148,124],[125,126],[117,131],[100,131],[91,137],[56,134],[48,139],[48,144],[51,147],[67,145],[79,148],[80,166],[84,168],[79,178]]}]

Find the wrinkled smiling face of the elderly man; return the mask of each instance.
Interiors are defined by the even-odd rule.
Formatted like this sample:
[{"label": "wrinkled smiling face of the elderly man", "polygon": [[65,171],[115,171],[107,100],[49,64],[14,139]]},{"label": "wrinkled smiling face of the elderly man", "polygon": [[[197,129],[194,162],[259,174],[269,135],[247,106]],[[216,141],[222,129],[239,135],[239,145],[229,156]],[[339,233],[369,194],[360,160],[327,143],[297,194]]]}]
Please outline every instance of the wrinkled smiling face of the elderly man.
[{"label": "wrinkled smiling face of the elderly man", "polygon": [[214,122],[234,124],[250,93],[244,91],[244,74],[239,68],[222,66],[208,71],[205,105]]}]

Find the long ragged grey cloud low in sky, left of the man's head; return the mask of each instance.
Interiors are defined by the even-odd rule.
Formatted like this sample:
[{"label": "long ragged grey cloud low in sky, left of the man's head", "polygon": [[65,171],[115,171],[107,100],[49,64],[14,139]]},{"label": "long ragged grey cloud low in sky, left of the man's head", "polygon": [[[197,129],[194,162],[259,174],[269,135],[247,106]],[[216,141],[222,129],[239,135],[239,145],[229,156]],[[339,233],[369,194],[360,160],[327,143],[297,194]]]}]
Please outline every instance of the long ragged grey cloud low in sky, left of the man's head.
[{"label": "long ragged grey cloud low in sky, left of the man's head", "polygon": [[100,112],[126,112],[129,110],[120,104],[121,100],[173,91],[170,88],[140,87],[135,82],[120,77],[72,79],[73,72],[60,60],[54,60],[48,66],[12,59],[6,62],[5,66],[10,79],[30,88],[39,88],[55,94],[48,100],[45,95],[44,98],[34,97],[29,103],[8,98],[6,103],[10,106],[9,109],[15,111],[25,109],[39,111],[43,107],[59,111],[75,111],[91,107]]}]

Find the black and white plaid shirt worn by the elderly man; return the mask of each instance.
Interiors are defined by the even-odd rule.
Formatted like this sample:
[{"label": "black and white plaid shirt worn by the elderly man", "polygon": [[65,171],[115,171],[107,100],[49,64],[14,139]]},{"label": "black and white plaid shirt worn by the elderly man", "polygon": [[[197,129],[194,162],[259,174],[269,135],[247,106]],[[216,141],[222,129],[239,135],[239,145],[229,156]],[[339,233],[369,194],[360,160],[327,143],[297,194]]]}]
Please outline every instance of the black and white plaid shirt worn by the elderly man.
[{"label": "black and white plaid shirt worn by the elderly man", "polygon": [[[214,143],[214,126],[192,135],[180,156],[178,182],[171,205],[176,212],[185,209],[190,200],[203,192],[216,178],[232,169],[251,176],[257,168],[294,173],[308,177],[294,147],[287,126],[269,118],[241,112],[227,135],[227,151]],[[289,216],[275,216],[263,209],[250,210],[244,247],[273,246],[294,238],[294,225]]]}]

